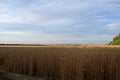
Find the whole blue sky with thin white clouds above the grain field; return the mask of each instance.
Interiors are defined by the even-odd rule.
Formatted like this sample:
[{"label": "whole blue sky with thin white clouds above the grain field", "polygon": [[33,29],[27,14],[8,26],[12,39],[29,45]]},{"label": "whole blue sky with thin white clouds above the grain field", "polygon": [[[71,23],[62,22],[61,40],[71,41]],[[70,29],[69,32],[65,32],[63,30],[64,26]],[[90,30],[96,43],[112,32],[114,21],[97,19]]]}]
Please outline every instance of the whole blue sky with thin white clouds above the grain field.
[{"label": "whole blue sky with thin white clouds above the grain field", "polygon": [[0,43],[107,44],[120,0],[0,0]]}]

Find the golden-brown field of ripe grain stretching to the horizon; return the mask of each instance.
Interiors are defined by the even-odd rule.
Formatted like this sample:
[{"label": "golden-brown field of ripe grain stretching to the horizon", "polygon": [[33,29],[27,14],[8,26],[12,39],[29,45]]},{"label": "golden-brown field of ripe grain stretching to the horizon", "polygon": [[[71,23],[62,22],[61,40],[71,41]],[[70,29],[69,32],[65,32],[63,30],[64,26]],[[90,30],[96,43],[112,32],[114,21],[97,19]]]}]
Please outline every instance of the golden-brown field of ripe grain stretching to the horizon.
[{"label": "golden-brown field of ripe grain stretching to the horizon", "polygon": [[37,80],[120,80],[120,47],[0,46],[0,68]]}]

